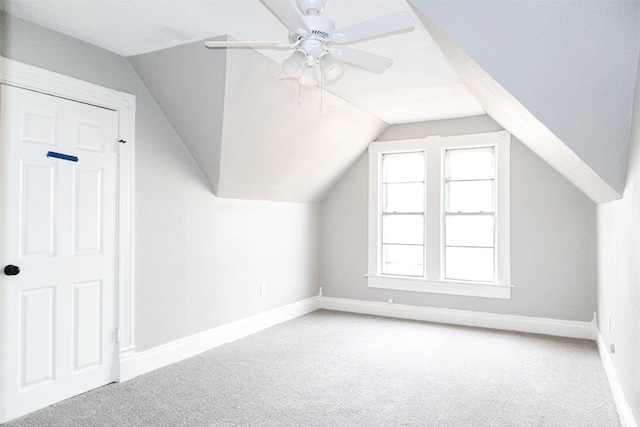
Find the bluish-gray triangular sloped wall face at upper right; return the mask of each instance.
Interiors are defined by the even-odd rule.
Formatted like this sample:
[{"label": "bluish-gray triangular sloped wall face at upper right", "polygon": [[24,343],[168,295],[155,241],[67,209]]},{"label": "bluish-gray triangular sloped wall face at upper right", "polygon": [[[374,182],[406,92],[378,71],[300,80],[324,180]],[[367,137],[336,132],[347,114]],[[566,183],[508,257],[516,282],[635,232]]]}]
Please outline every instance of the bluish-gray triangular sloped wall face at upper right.
[{"label": "bluish-gray triangular sloped wall face at upper right", "polygon": [[622,190],[640,51],[639,2],[411,3]]}]

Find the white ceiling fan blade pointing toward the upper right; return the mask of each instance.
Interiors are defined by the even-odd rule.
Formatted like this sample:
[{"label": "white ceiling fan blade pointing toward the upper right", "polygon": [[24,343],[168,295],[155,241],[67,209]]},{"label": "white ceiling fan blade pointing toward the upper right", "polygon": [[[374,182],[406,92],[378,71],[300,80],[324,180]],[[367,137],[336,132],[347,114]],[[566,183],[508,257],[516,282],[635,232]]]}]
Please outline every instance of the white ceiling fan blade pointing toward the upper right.
[{"label": "white ceiling fan blade pointing toward the upper right", "polygon": [[336,43],[350,43],[398,31],[412,30],[414,26],[409,12],[400,10],[390,15],[337,29],[331,34],[331,39]]}]

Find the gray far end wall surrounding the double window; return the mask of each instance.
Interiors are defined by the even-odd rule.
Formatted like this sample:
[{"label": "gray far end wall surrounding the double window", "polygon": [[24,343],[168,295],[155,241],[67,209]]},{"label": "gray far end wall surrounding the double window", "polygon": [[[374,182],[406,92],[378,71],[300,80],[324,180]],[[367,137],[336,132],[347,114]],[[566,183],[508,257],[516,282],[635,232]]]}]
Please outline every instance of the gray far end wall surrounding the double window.
[{"label": "gray far end wall surrounding the double window", "polygon": [[[398,125],[381,136],[487,132],[487,117]],[[426,132],[426,133],[425,133]],[[367,154],[321,205],[321,275],[328,297],[590,321],[596,309],[596,206],[520,142],[511,146],[511,300],[370,289]]]}]

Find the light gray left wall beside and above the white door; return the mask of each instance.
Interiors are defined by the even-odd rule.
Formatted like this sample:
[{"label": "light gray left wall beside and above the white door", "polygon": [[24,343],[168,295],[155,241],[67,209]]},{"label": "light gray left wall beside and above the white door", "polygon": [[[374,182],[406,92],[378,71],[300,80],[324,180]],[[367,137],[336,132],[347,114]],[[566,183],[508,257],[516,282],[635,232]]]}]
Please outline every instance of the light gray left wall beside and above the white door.
[{"label": "light gray left wall beside and above the white door", "polygon": [[5,14],[0,40],[4,57],[137,98],[138,350],[317,294],[317,206],[216,198],[125,58]]}]

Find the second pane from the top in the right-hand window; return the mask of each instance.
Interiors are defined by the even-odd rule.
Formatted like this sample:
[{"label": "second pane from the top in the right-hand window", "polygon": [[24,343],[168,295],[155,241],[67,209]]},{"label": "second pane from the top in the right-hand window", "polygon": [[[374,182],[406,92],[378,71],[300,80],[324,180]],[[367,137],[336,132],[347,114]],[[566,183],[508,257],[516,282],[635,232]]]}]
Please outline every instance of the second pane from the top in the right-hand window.
[{"label": "second pane from the top in the right-hand window", "polygon": [[447,212],[493,212],[493,180],[448,182]]}]

